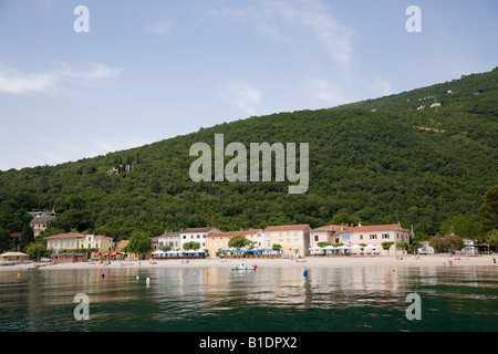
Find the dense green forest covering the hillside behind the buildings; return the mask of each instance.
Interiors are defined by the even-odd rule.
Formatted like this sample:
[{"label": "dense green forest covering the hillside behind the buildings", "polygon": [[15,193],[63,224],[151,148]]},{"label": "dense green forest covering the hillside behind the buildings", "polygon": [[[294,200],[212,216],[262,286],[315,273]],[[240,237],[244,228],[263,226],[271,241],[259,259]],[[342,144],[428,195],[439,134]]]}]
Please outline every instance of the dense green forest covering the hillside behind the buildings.
[{"label": "dense green forest covering the hillside behind the buildings", "polygon": [[[498,185],[497,80],[495,69],[333,108],[224,123],[58,166],[0,171],[0,233],[21,231],[28,211],[44,209],[58,214],[46,235],[79,230],[115,240],[136,230],[153,237],[206,225],[237,230],[400,220],[423,235],[439,232],[457,216],[477,225],[485,192]],[[435,102],[440,105],[430,107]],[[289,194],[288,181],[194,183],[190,146],[212,147],[215,134],[247,147],[309,143],[308,191]],[[113,167],[120,174],[107,174]]]}]

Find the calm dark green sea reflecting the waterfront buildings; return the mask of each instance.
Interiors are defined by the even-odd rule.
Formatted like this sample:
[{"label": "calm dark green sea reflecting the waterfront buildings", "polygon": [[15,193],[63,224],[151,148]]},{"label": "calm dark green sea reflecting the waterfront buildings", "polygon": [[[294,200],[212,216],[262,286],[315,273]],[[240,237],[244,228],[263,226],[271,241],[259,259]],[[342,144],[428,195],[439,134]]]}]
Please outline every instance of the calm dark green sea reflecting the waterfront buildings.
[{"label": "calm dark green sea reflecting the waterfront buildings", "polygon": [[[498,331],[496,267],[303,270],[1,271],[0,331]],[[419,320],[406,315],[413,293]],[[87,295],[89,320],[74,317],[76,294]]]}]

